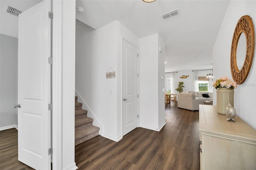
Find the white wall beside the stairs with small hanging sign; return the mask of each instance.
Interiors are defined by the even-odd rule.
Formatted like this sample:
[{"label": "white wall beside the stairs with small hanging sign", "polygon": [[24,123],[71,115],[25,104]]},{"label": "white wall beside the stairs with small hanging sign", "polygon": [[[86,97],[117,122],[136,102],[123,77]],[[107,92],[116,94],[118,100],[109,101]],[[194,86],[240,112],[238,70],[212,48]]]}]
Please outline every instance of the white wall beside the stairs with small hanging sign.
[{"label": "white wall beside the stairs with small hanging sign", "polygon": [[[102,125],[101,135],[114,141],[122,138],[122,38],[138,47],[138,38],[119,21],[98,30],[81,22],[76,28],[76,91],[90,109],[88,117]],[[110,67],[116,78],[106,79]]]}]

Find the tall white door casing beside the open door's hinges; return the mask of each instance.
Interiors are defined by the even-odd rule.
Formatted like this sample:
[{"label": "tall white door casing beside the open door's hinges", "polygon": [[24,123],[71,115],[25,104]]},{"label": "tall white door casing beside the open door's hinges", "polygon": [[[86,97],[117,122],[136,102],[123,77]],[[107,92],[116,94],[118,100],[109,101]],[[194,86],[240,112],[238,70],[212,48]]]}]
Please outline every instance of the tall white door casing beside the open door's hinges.
[{"label": "tall white door casing beside the open door's hinges", "polygon": [[62,169],[62,0],[53,0],[52,169]]}]

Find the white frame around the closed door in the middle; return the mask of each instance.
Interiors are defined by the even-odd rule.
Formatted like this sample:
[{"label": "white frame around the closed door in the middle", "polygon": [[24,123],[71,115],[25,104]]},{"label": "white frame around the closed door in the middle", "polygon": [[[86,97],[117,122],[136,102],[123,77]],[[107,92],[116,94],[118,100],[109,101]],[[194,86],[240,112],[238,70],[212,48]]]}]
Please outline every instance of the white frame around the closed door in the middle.
[{"label": "white frame around the closed door in the middle", "polygon": [[[121,63],[120,63],[120,65],[121,65],[121,97],[120,97],[120,100],[121,100],[121,136],[123,137],[124,135],[123,135],[123,81],[122,81],[122,79],[123,79],[123,77],[122,77],[122,74],[123,74],[123,67],[122,67],[122,63],[123,63],[123,56],[122,56],[122,50],[123,50],[123,40],[124,41],[126,41],[126,42],[128,42],[128,43],[130,43],[130,44],[132,44],[134,47],[137,47],[137,45],[134,45],[134,43],[131,43],[132,41],[130,41],[128,38],[126,38],[125,36],[121,36]],[[137,69],[138,69],[138,71],[137,71],[137,73],[139,74],[139,76],[137,77],[137,83],[138,83],[138,85],[137,85],[137,92],[138,92],[138,95],[140,94],[140,59],[139,59],[139,57],[140,57],[140,55],[139,55],[139,47],[137,47],[137,49],[138,49],[138,57],[137,57],[137,62],[138,62],[138,65],[137,65]],[[139,125],[140,125],[140,95],[139,95],[139,97],[138,97],[138,100],[137,100],[137,113],[138,113],[138,115],[139,115],[139,117],[138,117],[138,120],[137,120],[137,127],[139,127]]]}]

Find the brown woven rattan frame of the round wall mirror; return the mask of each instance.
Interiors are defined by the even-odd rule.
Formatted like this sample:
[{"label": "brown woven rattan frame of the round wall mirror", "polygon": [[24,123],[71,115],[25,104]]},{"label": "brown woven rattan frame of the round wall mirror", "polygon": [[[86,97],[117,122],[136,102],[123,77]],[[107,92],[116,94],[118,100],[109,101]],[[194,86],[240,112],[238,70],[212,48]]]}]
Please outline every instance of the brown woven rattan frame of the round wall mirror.
[{"label": "brown woven rattan frame of the round wall mirror", "polygon": [[[241,34],[244,33],[246,37],[246,53],[244,54],[244,64],[242,68],[238,68],[237,64],[237,46]],[[231,53],[230,53],[230,69],[234,81],[237,84],[242,84],[250,72],[252,66],[252,60],[254,56],[254,46],[255,46],[255,35],[252,19],[250,16],[242,16],[236,28],[234,30],[232,44],[231,44]],[[241,56],[239,56],[241,57]],[[242,56],[243,57],[243,56]]]}]

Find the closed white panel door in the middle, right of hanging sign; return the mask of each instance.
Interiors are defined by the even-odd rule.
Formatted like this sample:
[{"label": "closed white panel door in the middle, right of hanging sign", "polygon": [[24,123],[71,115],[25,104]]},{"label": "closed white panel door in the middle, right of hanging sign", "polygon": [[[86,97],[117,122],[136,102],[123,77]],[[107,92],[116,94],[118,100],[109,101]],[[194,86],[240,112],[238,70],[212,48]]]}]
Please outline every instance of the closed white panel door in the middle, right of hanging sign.
[{"label": "closed white panel door in the middle, right of hanging sign", "polygon": [[122,40],[123,136],[138,127],[138,49]]}]

